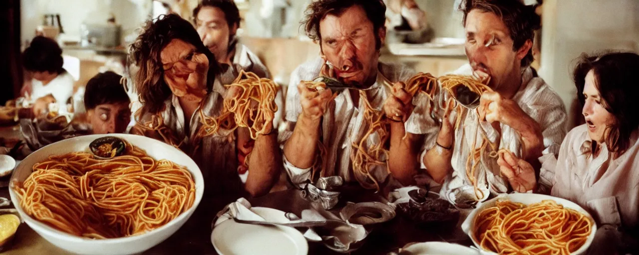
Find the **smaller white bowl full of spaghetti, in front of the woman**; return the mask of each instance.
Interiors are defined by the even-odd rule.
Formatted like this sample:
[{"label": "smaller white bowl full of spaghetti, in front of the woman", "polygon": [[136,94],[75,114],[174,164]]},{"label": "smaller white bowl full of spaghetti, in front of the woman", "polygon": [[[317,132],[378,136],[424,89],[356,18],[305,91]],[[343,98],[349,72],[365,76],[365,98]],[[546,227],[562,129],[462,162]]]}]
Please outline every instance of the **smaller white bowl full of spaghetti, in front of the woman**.
[{"label": "smaller white bowl full of spaghetti, in front of the woman", "polygon": [[527,193],[480,202],[461,228],[482,254],[585,254],[597,231],[576,203]]}]

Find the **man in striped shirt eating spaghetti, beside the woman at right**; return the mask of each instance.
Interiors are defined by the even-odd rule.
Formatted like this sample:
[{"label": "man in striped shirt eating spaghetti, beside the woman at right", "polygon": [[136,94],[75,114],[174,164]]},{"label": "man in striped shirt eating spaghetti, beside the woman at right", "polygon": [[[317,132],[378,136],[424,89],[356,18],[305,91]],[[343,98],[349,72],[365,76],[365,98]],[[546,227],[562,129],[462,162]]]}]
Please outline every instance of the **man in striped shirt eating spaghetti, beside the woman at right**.
[{"label": "man in striped shirt eating spaghetti, beside the woman at right", "polygon": [[556,155],[566,135],[566,109],[530,68],[534,31],[540,25],[534,6],[513,0],[467,0],[459,7],[470,64],[456,73],[488,81],[489,89],[482,93],[478,108],[458,105],[459,112],[449,108],[442,114],[436,141],[426,145],[431,149],[420,159],[433,184],[443,184],[441,194],[486,200],[489,194],[512,190],[500,175],[498,150],[509,150],[539,170],[537,158]]}]

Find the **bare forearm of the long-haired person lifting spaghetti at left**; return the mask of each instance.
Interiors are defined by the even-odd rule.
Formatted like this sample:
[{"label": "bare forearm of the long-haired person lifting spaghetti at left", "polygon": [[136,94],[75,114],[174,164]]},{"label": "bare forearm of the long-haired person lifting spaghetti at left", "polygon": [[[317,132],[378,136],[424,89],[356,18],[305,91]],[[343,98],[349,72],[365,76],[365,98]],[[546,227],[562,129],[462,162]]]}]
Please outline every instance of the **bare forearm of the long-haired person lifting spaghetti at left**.
[{"label": "bare forearm of the long-haired person lifting spaghetti at left", "polygon": [[246,191],[252,196],[267,194],[279,178],[281,168],[282,155],[277,145],[277,131],[259,135],[249,157]]}]

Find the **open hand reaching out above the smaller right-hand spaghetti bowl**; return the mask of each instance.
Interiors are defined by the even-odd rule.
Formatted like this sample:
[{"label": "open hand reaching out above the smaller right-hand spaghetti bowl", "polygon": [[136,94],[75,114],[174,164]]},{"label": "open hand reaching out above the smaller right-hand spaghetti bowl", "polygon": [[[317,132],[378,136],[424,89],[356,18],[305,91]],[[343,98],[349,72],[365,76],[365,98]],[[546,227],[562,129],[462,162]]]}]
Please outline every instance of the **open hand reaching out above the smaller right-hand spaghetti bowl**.
[{"label": "open hand reaching out above the smaller right-hand spaghetti bowl", "polygon": [[499,153],[497,164],[499,164],[500,173],[508,179],[514,191],[526,193],[534,191],[537,187],[537,178],[532,165],[514,156],[512,152]]}]

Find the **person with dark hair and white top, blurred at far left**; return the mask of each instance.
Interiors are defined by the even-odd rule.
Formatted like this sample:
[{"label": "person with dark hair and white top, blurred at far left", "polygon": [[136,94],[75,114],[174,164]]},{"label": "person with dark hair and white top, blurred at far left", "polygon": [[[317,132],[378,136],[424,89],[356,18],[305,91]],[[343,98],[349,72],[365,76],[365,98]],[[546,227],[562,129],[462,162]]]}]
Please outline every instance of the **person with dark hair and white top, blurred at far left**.
[{"label": "person with dark hair and white top, blurred at far left", "polygon": [[23,96],[28,93],[35,100],[33,113],[41,115],[49,103],[58,103],[59,109],[66,109],[66,101],[73,95],[73,77],[63,65],[62,49],[56,41],[36,36],[29,48],[22,53],[24,69],[31,73],[31,84],[22,88]]}]

